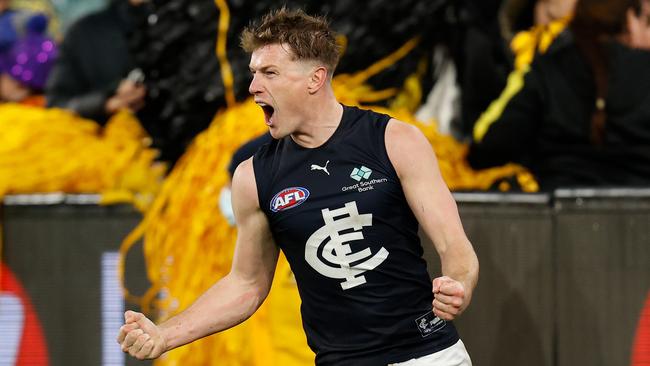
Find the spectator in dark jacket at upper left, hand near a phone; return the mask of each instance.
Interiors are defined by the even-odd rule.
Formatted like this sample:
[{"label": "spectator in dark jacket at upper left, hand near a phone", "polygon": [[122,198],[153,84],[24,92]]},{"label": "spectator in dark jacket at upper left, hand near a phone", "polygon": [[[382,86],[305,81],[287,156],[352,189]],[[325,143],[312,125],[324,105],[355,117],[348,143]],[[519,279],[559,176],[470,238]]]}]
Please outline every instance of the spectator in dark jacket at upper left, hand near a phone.
[{"label": "spectator in dark jacket at upper left, hand near a phone", "polygon": [[133,8],[144,0],[110,0],[108,6],[75,22],[64,37],[46,86],[47,105],[75,111],[104,124],[122,108],[137,111],[146,88],[128,48]]}]

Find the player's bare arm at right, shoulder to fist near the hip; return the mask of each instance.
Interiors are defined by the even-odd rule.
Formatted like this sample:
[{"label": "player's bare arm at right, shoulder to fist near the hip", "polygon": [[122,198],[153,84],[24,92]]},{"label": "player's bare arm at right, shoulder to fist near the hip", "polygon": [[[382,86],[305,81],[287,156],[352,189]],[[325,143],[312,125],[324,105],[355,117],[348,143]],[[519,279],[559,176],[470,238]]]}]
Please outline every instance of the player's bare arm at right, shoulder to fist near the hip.
[{"label": "player's bare arm at right, shoulder to fist near the hip", "polygon": [[386,129],[386,150],[411,210],[440,256],[443,277],[433,281],[434,313],[451,320],[470,303],[478,280],[478,259],[424,135],[393,119]]}]

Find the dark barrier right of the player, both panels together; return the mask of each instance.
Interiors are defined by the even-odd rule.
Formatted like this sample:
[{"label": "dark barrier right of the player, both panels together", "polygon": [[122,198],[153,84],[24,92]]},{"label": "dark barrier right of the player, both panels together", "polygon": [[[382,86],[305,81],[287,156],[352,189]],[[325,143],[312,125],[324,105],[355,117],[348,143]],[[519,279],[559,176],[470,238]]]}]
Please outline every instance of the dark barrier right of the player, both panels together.
[{"label": "dark barrier right of the player, both panels together", "polygon": [[631,365],[650,294],[650,189],[454,196],[481,264],[457,321],[474,364]]}]

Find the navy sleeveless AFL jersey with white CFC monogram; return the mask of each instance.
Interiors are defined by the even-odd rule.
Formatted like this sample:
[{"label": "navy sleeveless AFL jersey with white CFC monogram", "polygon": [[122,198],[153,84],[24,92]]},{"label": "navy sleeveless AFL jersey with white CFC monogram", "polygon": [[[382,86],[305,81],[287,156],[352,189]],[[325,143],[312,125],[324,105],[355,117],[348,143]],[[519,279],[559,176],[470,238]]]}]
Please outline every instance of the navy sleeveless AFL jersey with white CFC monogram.
[{"label": "navy sleeveless AFL jersey with white CFC monogram", "polygon": [[253,158],[260,207],[296,276],[317,365],[386,365],[458,340],[431,311],[418,222],[384,144],[389,119],[344,106],[322,146],[287,136]]}]

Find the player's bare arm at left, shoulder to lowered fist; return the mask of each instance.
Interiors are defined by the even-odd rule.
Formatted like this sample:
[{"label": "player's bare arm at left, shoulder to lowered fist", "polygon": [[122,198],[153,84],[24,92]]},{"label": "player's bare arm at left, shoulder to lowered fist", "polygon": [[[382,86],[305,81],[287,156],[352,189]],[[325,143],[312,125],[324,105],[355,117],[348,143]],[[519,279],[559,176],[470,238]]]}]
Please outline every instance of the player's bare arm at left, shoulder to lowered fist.
[{"label": "player's bare arm at left, shoulder to lowered fist", "polygon": [[127,312],[127,324],[118,336],[123,351],[139,359],[156,358],[243,322],[262,304],[271,288],[279,251],[258,205],[251,159],[235,171],[232,198],[238,236],[230,273],[159,326],[142,314]]}]

